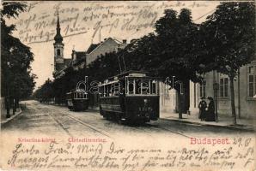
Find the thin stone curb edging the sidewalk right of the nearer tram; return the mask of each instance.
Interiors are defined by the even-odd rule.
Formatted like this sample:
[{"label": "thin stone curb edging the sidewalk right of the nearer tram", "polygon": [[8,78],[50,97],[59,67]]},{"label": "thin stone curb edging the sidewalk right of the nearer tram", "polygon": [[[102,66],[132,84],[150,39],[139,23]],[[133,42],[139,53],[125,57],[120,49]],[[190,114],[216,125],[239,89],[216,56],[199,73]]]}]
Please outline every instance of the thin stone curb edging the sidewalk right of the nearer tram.
[{"label": "thin stone curb edging the sidewalk right of the nearer tram", "polygon": [[192,122],[192,121],[182,121],[182,120],[175,120],[175,119],[166,119],[166,118],[160,118],[161,120],[166,120],[166,121],[177,121],[177,122],[183,122],[183,123],[188,123],[188,124],[195,124],[195,125],[200,125],[200,126],[207,126],[207,127],[224,127],[228,129],[233,129],[237,131],[248,131],[248,132],[255,132],[256,130],[253,129],[253,127],[235,127],[235,126],[220,126],[220,125],[211,125],[211,124],[204,124],[204,123],[198,123],[198,122]]}]

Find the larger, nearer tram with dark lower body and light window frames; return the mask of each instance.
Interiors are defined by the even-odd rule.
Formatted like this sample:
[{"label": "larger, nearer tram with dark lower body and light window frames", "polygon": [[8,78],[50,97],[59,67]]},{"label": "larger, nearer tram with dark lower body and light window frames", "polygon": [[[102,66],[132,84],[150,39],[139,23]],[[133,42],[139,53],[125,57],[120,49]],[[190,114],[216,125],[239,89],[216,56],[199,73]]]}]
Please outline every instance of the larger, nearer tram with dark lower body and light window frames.
[{"label": "larger, nearer tram with dark lower body and light window frames", "polygon": [[129,71],[99,85],[100,114],[119,123],[144,123],[159,118],[159,85],[155,77]]}]

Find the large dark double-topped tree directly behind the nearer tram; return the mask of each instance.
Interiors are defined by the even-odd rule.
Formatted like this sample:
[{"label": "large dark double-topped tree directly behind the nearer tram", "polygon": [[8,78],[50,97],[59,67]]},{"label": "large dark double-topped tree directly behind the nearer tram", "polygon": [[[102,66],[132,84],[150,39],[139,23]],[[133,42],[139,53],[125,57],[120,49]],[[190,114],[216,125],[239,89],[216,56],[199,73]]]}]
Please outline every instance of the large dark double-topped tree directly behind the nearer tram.
[{"label": "large dark double-topped tree directly behind the nearer tram", "polygon": [[[178,92],[180,119],[182,112],[186,112],[182,111],[182,105],[186,105],[186,108],[189,105],[182,104],[185,97],[180,91],[186,90],[189,80],[201,80],[202,52],[199,40],[198,25],[192,22],[189,9],[181,9],[180,15],[173,9],[166,9],[164,16],[155,22],[155,33],[134,40],[127,46],[129,55],[125,59],[131,63],[130,68],[137,66],[163,80],[172,76],[178,80],[173,88]],[[171,82],[168,84],[173,85]]]}]

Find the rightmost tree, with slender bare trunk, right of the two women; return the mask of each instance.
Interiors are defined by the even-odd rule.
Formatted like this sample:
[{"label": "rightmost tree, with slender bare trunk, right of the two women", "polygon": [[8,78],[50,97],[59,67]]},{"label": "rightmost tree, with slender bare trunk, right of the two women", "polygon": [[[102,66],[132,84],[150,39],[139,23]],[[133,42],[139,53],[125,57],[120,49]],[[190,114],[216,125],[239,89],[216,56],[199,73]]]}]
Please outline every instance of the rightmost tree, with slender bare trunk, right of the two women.
[{"label": "rightmost tree, with slender bare trunk, right of the two women", "polygon": [[236,124],[234,79],[255,57],[254,3],[221,3],[202,25],[210,70],[229,76],[232,116]]}]

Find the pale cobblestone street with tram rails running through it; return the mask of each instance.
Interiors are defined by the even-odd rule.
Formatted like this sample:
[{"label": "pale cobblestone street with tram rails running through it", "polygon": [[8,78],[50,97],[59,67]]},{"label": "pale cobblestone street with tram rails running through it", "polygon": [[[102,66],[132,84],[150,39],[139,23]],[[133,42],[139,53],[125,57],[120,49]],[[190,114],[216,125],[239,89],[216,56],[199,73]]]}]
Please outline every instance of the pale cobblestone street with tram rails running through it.
[{"label": "pale cobblestone street with tram rails running through it", "polygon": [[36,101],[27,101],[26,104],[27,109],[21,115],[4,124],[3,133],[25,132],[47,133],[47,135],[61,133],[70,137],[101,136],[111,139],[120,136],[147,136],[153,139],[165,136],[188,139],[205,135],[216,137],[247,133],[229,128],[220,129],[163,119],[136,126],[120,125],[116,121],[103,119],[97,110],[88,109],[85,112],[74,112],[66,107],[46,105]]}]

